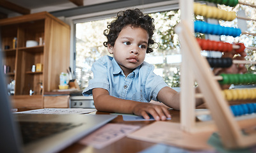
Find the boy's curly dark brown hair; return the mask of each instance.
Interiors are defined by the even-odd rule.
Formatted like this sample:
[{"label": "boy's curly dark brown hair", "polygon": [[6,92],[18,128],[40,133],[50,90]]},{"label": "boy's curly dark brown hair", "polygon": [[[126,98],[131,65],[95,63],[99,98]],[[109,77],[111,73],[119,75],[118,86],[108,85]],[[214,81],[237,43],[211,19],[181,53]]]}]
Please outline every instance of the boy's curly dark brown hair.
[{"label": "boy's curly dark brown hair", "polygon": [[149,36],[147,53],[153,52],[153,49],[150,48],[150,45],[155,43],[154,40],[152,40],[155,30],[153,22],[154,18],[149,15],[144,15],[138,8],[134,10],[119,11],[116,19],[110,24],[108,23],[108,29],[103,32],[108,38],[108,41],[105,41],[103,45],[105,47],[108,47],[108,44],[114,46],[120,31],[122,31],[126,25],[132,25],[132,27],[141,27],[147,31]]}]

